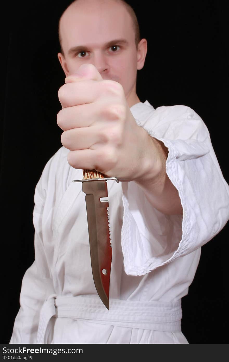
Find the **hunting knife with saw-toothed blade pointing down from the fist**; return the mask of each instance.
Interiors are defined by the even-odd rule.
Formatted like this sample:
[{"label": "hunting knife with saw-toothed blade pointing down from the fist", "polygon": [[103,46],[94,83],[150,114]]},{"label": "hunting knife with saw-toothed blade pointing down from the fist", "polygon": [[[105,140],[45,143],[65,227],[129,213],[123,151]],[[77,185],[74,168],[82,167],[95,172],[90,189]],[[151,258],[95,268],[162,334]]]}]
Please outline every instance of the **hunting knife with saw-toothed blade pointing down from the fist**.
[{"label": "hunting knife with saw-toothed blade pointing down from the fist", "polygon": [[112,245],[107,180],[119,182],[116,177],[105,177],[96,170],[83,170],[83,180],[72,182],[82,182],[82,191],[86,194],[92,275],[97,293],[109,310]]}]

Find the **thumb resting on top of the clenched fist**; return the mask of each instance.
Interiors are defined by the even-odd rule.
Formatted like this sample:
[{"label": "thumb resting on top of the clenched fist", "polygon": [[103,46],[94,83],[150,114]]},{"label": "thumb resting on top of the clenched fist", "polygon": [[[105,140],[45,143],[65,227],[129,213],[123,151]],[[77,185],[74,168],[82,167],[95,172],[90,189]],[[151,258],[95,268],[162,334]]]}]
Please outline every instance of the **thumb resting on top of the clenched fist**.
[{"label": "thumb resting on top of the clenched fist", "polygon": [[78,82],[82,80],[102,80],[101,74],[93,64],[82,64],[75,74],[65,78],[65,83]]}]

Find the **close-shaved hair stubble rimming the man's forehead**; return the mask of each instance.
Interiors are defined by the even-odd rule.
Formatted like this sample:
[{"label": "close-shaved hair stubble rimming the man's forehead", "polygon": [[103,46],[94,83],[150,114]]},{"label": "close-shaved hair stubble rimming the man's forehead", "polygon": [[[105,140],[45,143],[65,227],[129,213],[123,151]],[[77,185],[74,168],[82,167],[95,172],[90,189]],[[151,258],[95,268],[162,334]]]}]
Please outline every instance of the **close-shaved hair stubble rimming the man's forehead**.
[{"label": "close-shaved hair stubble rimming the man's forehead", "polygon": [[60,42],[60,49],[61,49],[61,52],[63,55],[64,55],[64,51],[63,51],[63,47],[62,47],[62,40],[63,40],[62,34],[63,34],[65,17],[68,16],[68,14],[73,11],[78,11],[78,12],[82,11],[85,13],[88,11],[89,7],[103,6],[106,3],[114,3],[113,6],[123,7],[123,11],[127,12],[128,15],[131,17],[132,28],[133,28],[133,31],[135,34],[135,45],[136,45],[136,49],[137,49],[137,45],[141,39],[139,24],[138,24],[137,17],[136,17],[134,10],[132,9],[132,7],[129,4],[126,3],[126,1],[124,1],[124,0],[75,0],[67,7],[67,9],[64,10],[64,12],[59,20],[59,42]]}]

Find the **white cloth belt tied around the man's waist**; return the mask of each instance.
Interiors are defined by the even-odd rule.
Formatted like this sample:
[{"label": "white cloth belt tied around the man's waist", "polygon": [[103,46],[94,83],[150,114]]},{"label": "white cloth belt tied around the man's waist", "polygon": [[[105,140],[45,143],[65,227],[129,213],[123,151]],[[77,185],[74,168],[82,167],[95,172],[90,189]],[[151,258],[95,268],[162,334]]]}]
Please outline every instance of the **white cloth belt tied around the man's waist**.
[{"label": "white cloth belt tied around the man's waist", "polygon": [[181,299],[178,302],[110,299],[108,311],[96,296],[91,298],[50,295],[41,308],[37,343],[45,343],[45,332],[52,317],[84,319],[118,327],[181,332]]}]

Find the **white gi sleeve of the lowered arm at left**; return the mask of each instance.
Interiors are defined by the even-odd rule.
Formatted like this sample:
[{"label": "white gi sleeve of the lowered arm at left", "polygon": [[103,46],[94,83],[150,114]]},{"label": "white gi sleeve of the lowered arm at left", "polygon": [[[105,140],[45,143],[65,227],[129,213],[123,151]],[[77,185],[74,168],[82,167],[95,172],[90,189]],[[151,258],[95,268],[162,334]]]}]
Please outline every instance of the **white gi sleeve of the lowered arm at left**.
[{"label": "white gi sleeve of the lowered arm at left", "polygon": [[[35,261],[27,269],[22,280],[20,310],[14,321],[10,344],[36,343],[39,313],[48,296],[54,293],[51,271],[44,252],[42,228],[45,228],[44,204],[46,199],[46,176],[50,162],[46,165],[35,189],[33,223],[35,228]],[[51,250],[50,250],[51,252]]]}]

